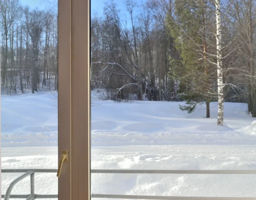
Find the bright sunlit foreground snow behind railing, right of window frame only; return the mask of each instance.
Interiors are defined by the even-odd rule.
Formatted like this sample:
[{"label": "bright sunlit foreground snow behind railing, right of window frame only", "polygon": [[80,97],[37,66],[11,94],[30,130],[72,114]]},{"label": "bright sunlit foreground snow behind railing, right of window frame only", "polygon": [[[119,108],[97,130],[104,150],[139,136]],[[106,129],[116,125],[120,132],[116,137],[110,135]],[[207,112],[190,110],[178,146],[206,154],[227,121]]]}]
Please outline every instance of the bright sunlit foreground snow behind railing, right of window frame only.
[{"label": "bright sunlit foreground snow behind railing, right of window frame only", "polygon": [[[92,169],[255,170],[255,146],[126,146],[92,149]],[[256,175],[92,174],[92,194],[255,197]]]}]

